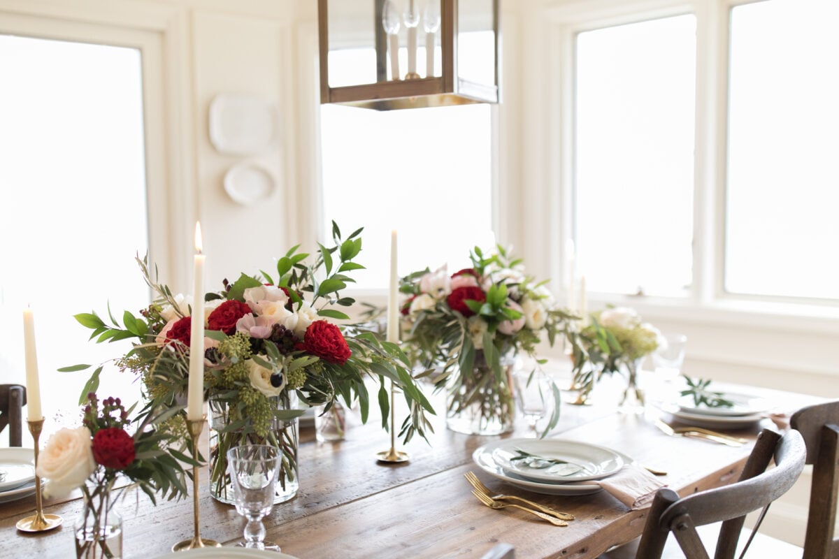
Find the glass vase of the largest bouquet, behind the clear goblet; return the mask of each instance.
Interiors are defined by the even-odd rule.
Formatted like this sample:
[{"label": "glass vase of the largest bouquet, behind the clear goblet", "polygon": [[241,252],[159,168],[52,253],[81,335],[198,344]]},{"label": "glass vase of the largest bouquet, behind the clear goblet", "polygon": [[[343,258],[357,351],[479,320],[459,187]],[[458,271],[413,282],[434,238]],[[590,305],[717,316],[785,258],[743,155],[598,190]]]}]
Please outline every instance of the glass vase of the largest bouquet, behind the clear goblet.
[{"label": "glass vase of the largest bouquet, behind the clear goblet", "polygon": [[[234,447],[267,444],[283,453],[283,466],[279,472],[274,505],[293,499],[300,489],[297,477],[297,396],[284,391],[268,398],[276,412],[265,437],[260,437],[242,411],[229,406],[227,401],[210,398],[210,494],[213,499],[235,505],[230,474],[227,468],[227,451]],[[294,417],[292,417],[294,416]]]}]

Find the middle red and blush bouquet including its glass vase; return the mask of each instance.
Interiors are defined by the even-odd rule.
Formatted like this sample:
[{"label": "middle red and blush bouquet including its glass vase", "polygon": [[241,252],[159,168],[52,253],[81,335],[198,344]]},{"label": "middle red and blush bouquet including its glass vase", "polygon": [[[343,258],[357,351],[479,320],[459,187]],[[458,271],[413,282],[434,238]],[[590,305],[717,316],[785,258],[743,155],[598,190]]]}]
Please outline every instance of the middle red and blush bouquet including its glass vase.
[{"label": "middle red and blush bouquet including its glass vase", "polygon": [[[448,427],[498,434],[513,428],[517,354],[535,355],[543,338],[553,345],[560,334],[581,356],[586,351],[577,344],[577,317],[557,307],[545,282],[528,277],[522,261],[502,246],[486,255],[475,247],[470,258],[472,267],[453,274],[442,267],[403,278],[404,341],[415,361],[441,371],[435,385],[448,391]],[[552,397],[556,406],[545,433],[559,418],[555,386]]]}]

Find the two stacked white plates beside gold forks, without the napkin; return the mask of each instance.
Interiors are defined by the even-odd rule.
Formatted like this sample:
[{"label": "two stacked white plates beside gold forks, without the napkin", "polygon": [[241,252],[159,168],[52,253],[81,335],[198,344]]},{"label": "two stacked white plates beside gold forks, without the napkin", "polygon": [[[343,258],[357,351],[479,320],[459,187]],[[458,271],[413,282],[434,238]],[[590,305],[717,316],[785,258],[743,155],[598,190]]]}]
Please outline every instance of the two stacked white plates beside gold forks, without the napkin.
[{"label": "two stacked white plates beside gold forks, without the napkin", "polygon": [[509,438],[472,453],[487,474],[520,489],[549,495],[597,493],[597,479],[617,474],[632,459],[611,448],[561,439]]}]

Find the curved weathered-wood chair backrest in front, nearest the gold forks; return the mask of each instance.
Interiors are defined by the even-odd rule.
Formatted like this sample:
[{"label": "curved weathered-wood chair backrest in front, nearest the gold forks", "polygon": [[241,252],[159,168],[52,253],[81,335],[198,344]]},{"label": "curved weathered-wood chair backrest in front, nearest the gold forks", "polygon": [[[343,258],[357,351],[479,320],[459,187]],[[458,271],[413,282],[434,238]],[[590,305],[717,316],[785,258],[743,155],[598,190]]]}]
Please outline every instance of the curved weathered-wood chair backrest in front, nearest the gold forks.
[{"label": "curved weathered-wood chair backrest in front, nearest the gold forks", "polygon": [[[775,467],[766,469],[770,459]],[[696,526],[721,522],[717,559],[732,559],[749,512],[769,505],[795,484],[804,469],[806,448],[800,433],[783,437],[765,430],[758,435],[740,479],[733,484],[680,498],[672,489],[659,489],[638,544],[638,559],[657,559],[670,532],[687,559],[708,559]]]}]

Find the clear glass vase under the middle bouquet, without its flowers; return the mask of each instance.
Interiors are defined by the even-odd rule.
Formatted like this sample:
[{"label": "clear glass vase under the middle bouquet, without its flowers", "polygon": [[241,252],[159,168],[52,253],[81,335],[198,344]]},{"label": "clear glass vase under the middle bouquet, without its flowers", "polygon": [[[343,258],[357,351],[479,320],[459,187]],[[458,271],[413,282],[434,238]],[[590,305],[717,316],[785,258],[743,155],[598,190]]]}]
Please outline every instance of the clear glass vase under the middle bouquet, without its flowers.
[{"label": "clear glass vase under the middle bouquet, without its flowers", "polygon": [[470,370],[453,370],[446,380],[446,427],[468,435],[500,435],[513,431],[515,406],[513,359],[501,358],[492,370],[477,350]]}]

